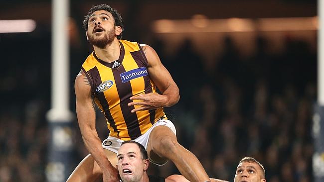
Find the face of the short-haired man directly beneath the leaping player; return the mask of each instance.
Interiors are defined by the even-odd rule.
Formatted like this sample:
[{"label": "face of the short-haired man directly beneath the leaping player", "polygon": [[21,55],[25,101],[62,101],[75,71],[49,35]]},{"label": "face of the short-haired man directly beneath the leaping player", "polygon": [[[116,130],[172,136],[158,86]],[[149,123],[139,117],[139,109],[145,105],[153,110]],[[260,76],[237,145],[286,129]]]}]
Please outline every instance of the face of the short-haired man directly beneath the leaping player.
[{"label": "face of the short-haired man directly beneath the leaping player", "polygon": [[123,182],[139,182],[148,168],[148,160],[143,160],[139,147],[126,143],[117,153],[118,171]]}]

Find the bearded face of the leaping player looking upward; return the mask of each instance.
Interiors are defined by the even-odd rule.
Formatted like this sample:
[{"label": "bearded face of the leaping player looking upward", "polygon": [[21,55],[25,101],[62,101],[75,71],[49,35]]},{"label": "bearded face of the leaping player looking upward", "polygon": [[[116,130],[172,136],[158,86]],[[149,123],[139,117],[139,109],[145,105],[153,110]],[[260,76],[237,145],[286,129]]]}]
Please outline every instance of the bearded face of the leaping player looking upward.
[{"label": "bearded face of the leaping player looking upward", "polygon": [[92,45],[104,48],[115,39],[115,30],[114,17],[110,12],[98,10],[90,15],[87,36]]}]

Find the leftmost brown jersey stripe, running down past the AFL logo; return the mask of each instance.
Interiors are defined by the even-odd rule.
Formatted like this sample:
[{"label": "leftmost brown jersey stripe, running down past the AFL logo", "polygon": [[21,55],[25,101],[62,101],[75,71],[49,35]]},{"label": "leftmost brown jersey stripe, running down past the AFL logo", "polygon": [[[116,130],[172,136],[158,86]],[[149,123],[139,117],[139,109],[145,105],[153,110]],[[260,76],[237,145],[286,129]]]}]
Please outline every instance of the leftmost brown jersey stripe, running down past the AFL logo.
[{"label": "leftmost brown jersey stripe, running down past the AFL logo", "polygon": [[[97,67],[92,68],[91,70],[88,71],[88,73],[92,76],[93,82],[94,82],[93,84],[95,86],[102,83]],[[94,88],[94,89],[95,89],[94,92],[96,94],[96,97],[100,101],[100,104],[101,104],[101,106],[102,106],[102,108],[103,108],[103,110],[105,112],[105,116],[106,116],[108,122],[110,123],[110,126],[114,129],[114,131],[117,132],[116,123],[115,123],[115,120],[113,119],[113,116],[110,113],[109,105],[108,105],[108,102],[107,102],[107,100],[105,98],[104,92],[97,92],[96,88]]]}]

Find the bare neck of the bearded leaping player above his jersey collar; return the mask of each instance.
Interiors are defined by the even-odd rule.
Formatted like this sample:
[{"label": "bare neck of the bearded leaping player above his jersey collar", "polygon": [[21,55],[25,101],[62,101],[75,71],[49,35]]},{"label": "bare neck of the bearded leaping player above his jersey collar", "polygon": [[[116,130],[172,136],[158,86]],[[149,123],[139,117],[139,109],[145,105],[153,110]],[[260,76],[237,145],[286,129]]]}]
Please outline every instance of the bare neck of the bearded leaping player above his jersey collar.
[{"label": "bare neck of the bearded leaping player above his jersey collar", "polygon": [[120,45],[118,39],[114,39],[113,42],[108,44],[105,48],[99,48],[93,46],[97,57],[105,62],[112,63],[118,60],[120,55]]}]

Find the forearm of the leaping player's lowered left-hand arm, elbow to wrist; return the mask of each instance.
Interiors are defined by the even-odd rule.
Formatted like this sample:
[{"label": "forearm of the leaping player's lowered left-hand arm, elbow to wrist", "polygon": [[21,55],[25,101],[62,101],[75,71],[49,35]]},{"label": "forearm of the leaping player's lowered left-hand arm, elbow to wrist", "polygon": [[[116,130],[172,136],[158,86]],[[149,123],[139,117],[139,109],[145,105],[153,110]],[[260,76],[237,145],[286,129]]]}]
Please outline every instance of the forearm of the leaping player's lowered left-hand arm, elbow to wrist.
[{"label": "forearm of the leaping player's lowered left-hand arm, elbow to wrist", "polygon": [[85,129],[82,133],[82,139],[86,148],[91,156],[95,159],[102,171],[109,171],[112,168],[112,164],[109,162],[102,148],[101,141],[98,137],[96,130]]}]

